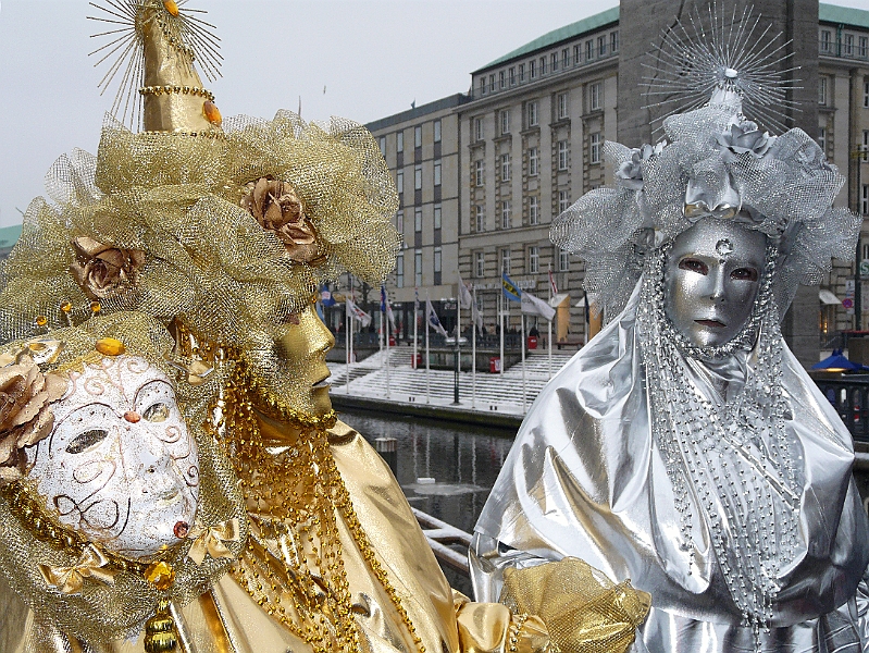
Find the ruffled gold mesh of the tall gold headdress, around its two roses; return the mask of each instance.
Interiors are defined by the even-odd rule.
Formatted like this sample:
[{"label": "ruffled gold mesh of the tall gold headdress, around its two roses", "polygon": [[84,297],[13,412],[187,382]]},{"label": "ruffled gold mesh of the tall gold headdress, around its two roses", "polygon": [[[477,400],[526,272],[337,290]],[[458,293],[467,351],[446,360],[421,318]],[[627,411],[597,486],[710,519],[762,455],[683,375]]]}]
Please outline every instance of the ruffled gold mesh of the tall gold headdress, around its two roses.
[{"label": "ruffled gold mesh of the tall gold headdress, around its two roses", "polygon": [[[145,252],[135,285],[100,300],[102,312],[136,309],[167,323],[183,316],[209,340],[262,347],[288,313],[310,304],[318,284],[344,270],[376,284],[395,264],[397,195],[371,134],[349,121],[309,125],[227,121],[225,138],[133,134],[111,119],[99,155],[61,157],[22,237],[0,271],[0,338],[80,323],[91,300],[72,280],[71,239]],[[281,241],[239,204],[245,184],[271,175],[302,200],[322,266],[291,261]],[[60,307],[70,303],[72,310]],[[41,321],[41,320],[40,320]]]}]

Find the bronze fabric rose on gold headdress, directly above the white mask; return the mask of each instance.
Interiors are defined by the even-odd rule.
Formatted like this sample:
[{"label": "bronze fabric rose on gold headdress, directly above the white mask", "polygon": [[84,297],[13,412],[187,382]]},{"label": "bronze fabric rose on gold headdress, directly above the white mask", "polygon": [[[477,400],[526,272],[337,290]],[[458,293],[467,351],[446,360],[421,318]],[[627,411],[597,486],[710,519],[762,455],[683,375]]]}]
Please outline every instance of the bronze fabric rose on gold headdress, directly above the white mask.
[{"label": "bronze fabric rose on gold headdress, directly above the white mask", "polygon": [[76,261],[70,272],[89,299],[105,299],[135,286],[145,266],[140,249],[121,249],[78,236],[72,241]]}]

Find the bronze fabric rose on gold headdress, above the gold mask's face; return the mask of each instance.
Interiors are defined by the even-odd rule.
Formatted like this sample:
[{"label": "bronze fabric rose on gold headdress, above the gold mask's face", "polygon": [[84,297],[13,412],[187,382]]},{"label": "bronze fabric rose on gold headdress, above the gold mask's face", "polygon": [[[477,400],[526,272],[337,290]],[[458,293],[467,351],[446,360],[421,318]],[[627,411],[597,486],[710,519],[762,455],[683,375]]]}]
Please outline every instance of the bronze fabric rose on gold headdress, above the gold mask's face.
[{"label": "bronze fabric rose on gold headdress, above the gold mask's face", "polygon": [[272,233],[286,247],[287,256],[300,263],[312,263],[320,254],[316,233],[305,214],[301,199],[286,182],[260,177],[246,185],[241,200],[260,225]]}]

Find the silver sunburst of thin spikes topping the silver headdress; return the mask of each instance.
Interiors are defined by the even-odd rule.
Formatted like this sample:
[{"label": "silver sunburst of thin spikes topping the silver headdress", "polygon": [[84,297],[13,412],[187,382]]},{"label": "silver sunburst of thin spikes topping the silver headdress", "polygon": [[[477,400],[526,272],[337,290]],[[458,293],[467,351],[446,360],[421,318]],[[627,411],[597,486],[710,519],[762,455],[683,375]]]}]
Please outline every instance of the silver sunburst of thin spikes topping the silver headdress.
[{"label": "silver sunburst of thin spikes topping the silver headdress", "polygon": [[770,35],[772,25],[762,27],[753,9],[746,7],[738,15],[734,7],[727,21],[717,3],[703,13],[695,4],[686,21],[678,19],[663,32],[661,44],[654,44],[655,63],[642,64],[651,71],[643,77],[643,95],[656,100],[644,108],[666,110],[653,122],[710,101],[736,101],[764,128],[787,130],[793,120],[787,112],[799,111],[787,93],[800,87],[795,86],[799,79],[785,76],[799,67],[781,70],[793,56],[785,52],[792,41],[777,45],[782,33]]}]

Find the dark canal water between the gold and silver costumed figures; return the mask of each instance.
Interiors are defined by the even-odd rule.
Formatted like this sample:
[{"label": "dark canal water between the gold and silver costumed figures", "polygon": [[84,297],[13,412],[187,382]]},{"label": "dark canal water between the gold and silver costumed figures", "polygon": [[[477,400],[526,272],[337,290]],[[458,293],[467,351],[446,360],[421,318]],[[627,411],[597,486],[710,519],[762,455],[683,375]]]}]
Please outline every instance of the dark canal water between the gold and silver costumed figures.
[{"label": "dark canal water between the gold and silver costumed figures", "polygon": [[[340,419],[370,443],[395,438],[398,482],[410,505],[473,532],[516,432],[364,410],[343,410]],[[444,569],[450,584],[470,595],[467,578]]]}]

